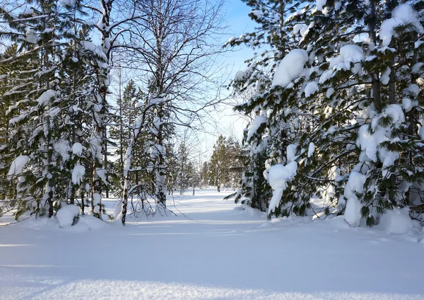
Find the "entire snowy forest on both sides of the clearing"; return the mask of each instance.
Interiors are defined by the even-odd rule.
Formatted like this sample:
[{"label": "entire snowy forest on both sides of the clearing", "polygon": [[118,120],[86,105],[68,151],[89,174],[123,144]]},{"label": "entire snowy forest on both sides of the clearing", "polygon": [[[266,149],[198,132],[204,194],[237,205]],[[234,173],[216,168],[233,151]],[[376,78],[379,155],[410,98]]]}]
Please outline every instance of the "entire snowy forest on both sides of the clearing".
[{"label": "entire snowy forest on both sides of the clearing", "polygon": [[[0,215],[125,224],[214,186],[268,219],[422,223],[424,1],[244,2],[254,30],[219,42],[221,1],[3,1]],[[248,125],[205,159],[228,98]]]}]

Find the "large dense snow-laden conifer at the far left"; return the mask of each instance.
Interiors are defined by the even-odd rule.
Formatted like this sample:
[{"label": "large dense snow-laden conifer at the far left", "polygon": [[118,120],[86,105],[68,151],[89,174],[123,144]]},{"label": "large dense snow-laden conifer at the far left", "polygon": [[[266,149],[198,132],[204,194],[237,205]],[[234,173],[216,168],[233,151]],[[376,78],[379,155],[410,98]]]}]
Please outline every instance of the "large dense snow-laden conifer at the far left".
[{"label": "large dense snow-laden conifer at the far left", "polygon": [[[69,142],[71,128],[76,125],[73,121],[78,93],[73,92],[79,89],[87,97],[87,91],[81,82],[72,81],[70,62],[81,51],[81,42],[74,37],[77,37],[75,28],[82,22],[79,19],[82,12],[78,1],[61,5],[57,1],[34,1],[26,4],[17,17],[8,13],[9,7],[2,8],[2,17],[11,29],[4,35],[20,47],[20,52],[9,60],[18,62],[37,57],[32,71],[20,71],[20,76],[25,74],[25,80],[4,94],[20,96],[9,108],[12,113],[19,113],[9,120],[14,127],[11,133],[22,133],[17,143],[19,148],[6,145],[8,156],[16,157],[8,176],[19,178],[16,218],[27,211],[36,215],[48,213],[52,217],[57,208],[55,203],[64,200],[65,190],[65,195],[74,199],[73,192],[69,192],[73,190],[73,166],[69,161],[73,151]],[[81,74],[88,78],[86,70]]]}]

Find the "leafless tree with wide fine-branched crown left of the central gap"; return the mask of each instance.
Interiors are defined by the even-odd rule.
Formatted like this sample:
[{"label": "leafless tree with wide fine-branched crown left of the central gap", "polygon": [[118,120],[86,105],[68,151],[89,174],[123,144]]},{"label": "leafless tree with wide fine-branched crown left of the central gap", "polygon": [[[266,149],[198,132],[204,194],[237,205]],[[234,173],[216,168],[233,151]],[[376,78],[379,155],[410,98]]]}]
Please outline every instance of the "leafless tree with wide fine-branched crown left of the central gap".
[{"label": "leafless tree with wide fine-branched crown left of the central gap", "polygon": [[[126,45],[136,79],[149,93],[146,110],[154,114],[152,158],[155,168],[155,200],[166,207],[165,137],[172,126],[192,126],[201,112],[216,105],[219,99],[208,97],[214,84],[216,55],[222,52],[214,38],[220,27],[221,1],[208,0],[148,0],[139,2],[136,28],[129,32]],[[216,86],[214,86],[216,88]],[[210,95],[210,93],[209,93]],[[131,151],[137,134],[146,130],[141,116],[134,128],[126,152],[131,166]],[[127,168],[129,168],[127,166]],[[128,186],[123,187],[122,223],[125,222]]]}]

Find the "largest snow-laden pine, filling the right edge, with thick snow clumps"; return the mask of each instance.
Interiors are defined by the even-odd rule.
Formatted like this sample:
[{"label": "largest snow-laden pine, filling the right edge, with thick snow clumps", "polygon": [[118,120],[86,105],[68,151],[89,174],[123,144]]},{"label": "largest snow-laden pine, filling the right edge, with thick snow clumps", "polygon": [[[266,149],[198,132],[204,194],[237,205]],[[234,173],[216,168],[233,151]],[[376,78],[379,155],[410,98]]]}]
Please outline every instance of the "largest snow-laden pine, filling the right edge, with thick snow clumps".
[{"label": "largest snow-laden pine, filling the right edge, with thick snow clumps", "polygon": [[351,226],[387,209],[420,212],[422,7],[317,1],[290,18],[307,24],[300,45],[313,60],[299,94],[311,124],[294,145],[297,175],[280,210],[305,214],[311,196],[327,198],[324,213],[338,206]]}]

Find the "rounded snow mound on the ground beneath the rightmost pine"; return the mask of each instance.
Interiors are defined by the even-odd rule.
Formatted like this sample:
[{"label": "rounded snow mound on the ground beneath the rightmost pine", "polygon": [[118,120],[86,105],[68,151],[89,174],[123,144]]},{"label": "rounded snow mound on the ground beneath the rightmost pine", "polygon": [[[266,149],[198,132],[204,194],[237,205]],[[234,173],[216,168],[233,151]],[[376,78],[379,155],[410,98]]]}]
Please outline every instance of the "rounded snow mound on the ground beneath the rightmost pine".
[{"label": "rounded snow mound on the ground beneath the rightmost pine", "polygon": [[380,217],[379,229],[388,233],[408,233],[413,229],[413,221],[409,217],[409,208],[394,208]]}]

